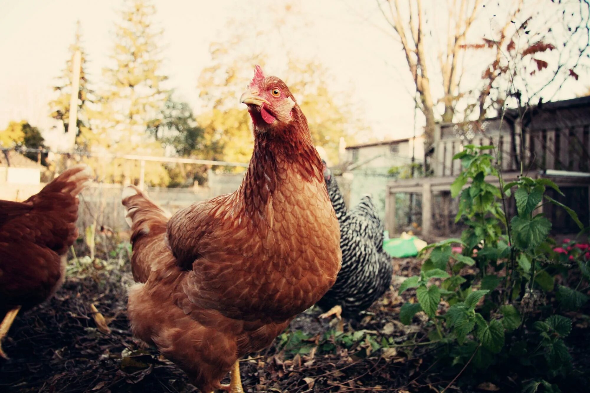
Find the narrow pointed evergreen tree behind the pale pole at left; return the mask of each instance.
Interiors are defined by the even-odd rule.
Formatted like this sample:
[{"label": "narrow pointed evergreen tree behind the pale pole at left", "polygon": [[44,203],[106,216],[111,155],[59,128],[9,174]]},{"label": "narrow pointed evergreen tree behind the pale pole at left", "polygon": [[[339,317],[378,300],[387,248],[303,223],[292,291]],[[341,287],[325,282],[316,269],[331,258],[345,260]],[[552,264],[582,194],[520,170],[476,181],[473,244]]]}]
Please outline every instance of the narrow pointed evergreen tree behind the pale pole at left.
[{"label": "narrow pointed evergreen tree behind the pale pole at left", "polygon": [[70,55],[65,68],[61,76],[58,77],[57,86],[53,88],[58,92],[58,96],[49,103],[51,117],[63,123],[65,132],[68,132],[68,122],[70,121],[70,97],[73,78],[72,63],[76,51],[80,51],[81,54],[80,87],[78,89],[78,131],[76,137],[78,148],[80,148],[81,146],[89,145],[89,137],[91,136],[90,118],[92,116],[90,107],[95,101],[94,91],[89,87],[90,83],[86,73],[87,54],[82,47],[80,21],[76,25],[76,38],[74,38],[74,43],[70,45]]}]

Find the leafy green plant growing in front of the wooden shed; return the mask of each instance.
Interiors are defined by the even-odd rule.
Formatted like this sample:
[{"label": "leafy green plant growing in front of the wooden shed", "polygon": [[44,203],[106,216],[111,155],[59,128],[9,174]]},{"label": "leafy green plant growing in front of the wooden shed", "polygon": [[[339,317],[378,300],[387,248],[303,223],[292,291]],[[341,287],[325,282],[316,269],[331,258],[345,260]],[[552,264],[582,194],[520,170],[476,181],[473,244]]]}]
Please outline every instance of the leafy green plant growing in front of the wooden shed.
[{"label": "leafy green plant growing in front of the wooden shed", "polygon": [[[561,193],[549,179],[520,176],[504,184],[493,156],[483,153],[489,149],[493,146],[467,145],[454,156],[462,165],[451,185],[453,197],[459,196],[455,221],[463,220],[466,230],[460,239],[422,250],[419,276],[409,277],[399,289],[401,294],[415,288],[418,302],[404,304],[399,319],[409,324],[423,311],[433,327],[429,337],[447,345],[440,355],[450,357],[453,365],[486,369],[516,357],[523,366],[535,365],[528,374],[545,371],[549,382],[533,379],[535,389],[552,391],[551,379],[568,371],[563,338],[569,333],[566,326],[571,327],[570,319],[555,314],[587,302],[588,287],[582,284],[590,281],[590,266],[581,252],[573,253],[573,259],[560,258],[548,237],[552,223],[537,211],[545,200],[583,226],[572,209],[545,195],[547,187]],[[517,210],[512,218],[506,209],[510,198]],[[566,280],[556,286],[555,276],[568,277],[572,270],[580,277],[577,286],[566,286]],[[448,307],[441,307],[441,300]],[[550,316],[541,321],[540,315]]]}]

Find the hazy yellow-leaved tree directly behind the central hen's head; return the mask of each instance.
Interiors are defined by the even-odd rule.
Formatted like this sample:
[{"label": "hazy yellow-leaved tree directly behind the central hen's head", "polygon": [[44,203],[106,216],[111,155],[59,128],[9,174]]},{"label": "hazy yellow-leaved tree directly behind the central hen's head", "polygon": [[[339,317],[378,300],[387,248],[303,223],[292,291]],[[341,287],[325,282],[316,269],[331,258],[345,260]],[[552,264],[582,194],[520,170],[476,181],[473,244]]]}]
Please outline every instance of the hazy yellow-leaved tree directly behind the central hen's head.
[{"label": "hazy yellow-leaved tree directly behind the central hen's head", "polygon": [[209,47],[211,64],[199,74],[197,86],[204,103],[197,120],[204,129],[208,148],[203,158],[237,162],[250,159],[254,143],[251,121],[238,98],[248,86],[255,64],[260,64],[267,74],[283,78],[306,114],[314,142],[326,149],[332,163],[337,163],[340,137],[352,143],[355,135],[366,130],[361,114],[349,99],[353,91],[335,91],[327,68],[287,50],[273,53],[273,58],[284,60],[283,66],[267,70],[268,57],[263,49],[276,47],[271,40],[283,40],[294,30],[306,27],[300,21],[290,25],[296,20],[293,15],[299,12],[293,3],[277,4],[272,11],[270,21],[249,31],[235,31],[240,24],[230,22],[225,30],[227,40],[213,42]]}]

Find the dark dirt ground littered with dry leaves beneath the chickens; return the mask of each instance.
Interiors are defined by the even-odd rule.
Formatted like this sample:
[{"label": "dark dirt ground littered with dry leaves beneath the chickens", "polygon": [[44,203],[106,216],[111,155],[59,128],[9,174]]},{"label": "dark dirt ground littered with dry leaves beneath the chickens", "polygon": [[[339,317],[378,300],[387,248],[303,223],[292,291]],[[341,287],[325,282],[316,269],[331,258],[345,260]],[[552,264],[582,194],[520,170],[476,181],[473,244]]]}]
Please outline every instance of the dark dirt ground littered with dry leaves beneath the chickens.
[{"label": "dark dirt ground littered with dry leaves beneath the chickens", "polygon": [[[394,266],[396,288],[419,270],[412,259]],[[117,270],[70,277],[53,299],[18,315],[3,345],[11,361],[0,362],[0,391],[196,391],[155,348],[133,338],[126,317],[131,283],[129,272]],[[422,345],[428,338],[421,319],[398,321],[404,302],[388,292],[359,320],[346,321],[344,333],[336,332],[336,320],[320,320],[319,309],[307,310],[273,346],[242,360],[245,391],[459,391],[453,375],[431,371],[433,349]],[[92,304],[110,332],[97,327]]]}]

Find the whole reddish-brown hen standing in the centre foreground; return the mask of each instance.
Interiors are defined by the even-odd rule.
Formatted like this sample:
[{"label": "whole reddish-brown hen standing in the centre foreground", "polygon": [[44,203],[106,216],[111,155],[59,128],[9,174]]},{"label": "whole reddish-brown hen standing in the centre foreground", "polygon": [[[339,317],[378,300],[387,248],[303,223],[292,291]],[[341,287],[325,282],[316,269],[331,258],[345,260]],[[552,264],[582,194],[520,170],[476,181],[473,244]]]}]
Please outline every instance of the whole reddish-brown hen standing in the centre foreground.
[{"label": "whole reddish-brown hen standing in the centre foreground", "polygon": [[170,220],[139,189],[123,194],[139,282],[129,291],[133,333],[204,393],[242,392],[238,360],[270,345],[340,268],[338,221],[299,105],[260,67],[241,102],[255,147],[237,191]]}]

